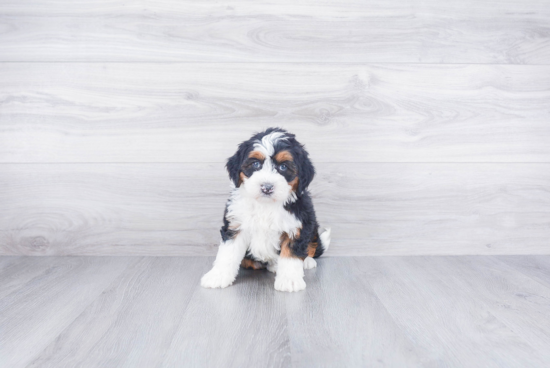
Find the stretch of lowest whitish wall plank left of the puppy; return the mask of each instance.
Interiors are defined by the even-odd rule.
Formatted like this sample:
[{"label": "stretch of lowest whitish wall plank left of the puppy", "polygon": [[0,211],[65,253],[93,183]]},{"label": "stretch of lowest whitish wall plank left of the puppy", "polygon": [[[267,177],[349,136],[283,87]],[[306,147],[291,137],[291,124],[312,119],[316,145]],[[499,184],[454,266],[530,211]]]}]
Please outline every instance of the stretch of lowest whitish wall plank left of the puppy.
[{"label": "stretch of lowest whitish wall plank left of the puppy", "polygon": [[[212,255],[223,165],[3,165],[2,253]],[[14,217],[15,216],[15,217]]]}]

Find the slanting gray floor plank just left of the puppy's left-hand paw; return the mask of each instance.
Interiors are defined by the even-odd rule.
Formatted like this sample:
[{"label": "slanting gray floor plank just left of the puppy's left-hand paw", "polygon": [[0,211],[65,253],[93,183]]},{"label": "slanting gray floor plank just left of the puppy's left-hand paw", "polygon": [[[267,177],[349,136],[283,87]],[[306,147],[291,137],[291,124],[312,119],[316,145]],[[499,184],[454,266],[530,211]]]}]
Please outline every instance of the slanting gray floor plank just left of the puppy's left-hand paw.
[{"label": "slanting gray floor plank just left of the puppy's left-hand paw", "polygon": [[141,259],[28,367],[156,366],[211,262],[206,257]]}]

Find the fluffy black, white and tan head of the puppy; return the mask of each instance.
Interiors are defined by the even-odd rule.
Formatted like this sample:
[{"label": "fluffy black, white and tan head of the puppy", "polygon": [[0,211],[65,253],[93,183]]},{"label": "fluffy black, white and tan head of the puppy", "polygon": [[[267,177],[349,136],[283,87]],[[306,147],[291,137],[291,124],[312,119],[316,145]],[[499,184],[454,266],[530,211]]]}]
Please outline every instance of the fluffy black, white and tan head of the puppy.
[{"label": "fluffy black, white and tan head of the puppy", "polygon": [[295,201],[315,175],[303,145],[280,128],[269,128],[239,144],[226,167],[245,195],[266,202]]}]

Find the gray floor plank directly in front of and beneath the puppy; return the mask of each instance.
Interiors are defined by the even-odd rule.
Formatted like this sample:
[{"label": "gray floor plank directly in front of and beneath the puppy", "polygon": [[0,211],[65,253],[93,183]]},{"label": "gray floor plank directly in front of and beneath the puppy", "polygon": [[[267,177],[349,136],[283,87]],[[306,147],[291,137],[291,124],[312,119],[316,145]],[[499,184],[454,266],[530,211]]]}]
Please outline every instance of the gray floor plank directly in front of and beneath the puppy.
[{"label": "gray floor plank directly in front of and beneath the puppy", "polygon": [[289,367],[286,295],[273,284],[266,270],[241,269],[226,289],[197,286],[159,366]]}]

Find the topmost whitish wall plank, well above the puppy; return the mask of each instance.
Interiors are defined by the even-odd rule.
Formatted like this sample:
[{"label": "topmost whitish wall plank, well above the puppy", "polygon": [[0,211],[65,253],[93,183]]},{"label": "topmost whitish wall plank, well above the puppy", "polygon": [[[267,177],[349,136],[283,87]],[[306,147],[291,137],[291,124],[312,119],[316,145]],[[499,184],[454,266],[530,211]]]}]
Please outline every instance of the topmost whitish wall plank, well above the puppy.
[{"label": "topmost whitish wall plank, well above the puppy", "polygon": [[545,1],[2,2],[0,61],[550,62]]}]

